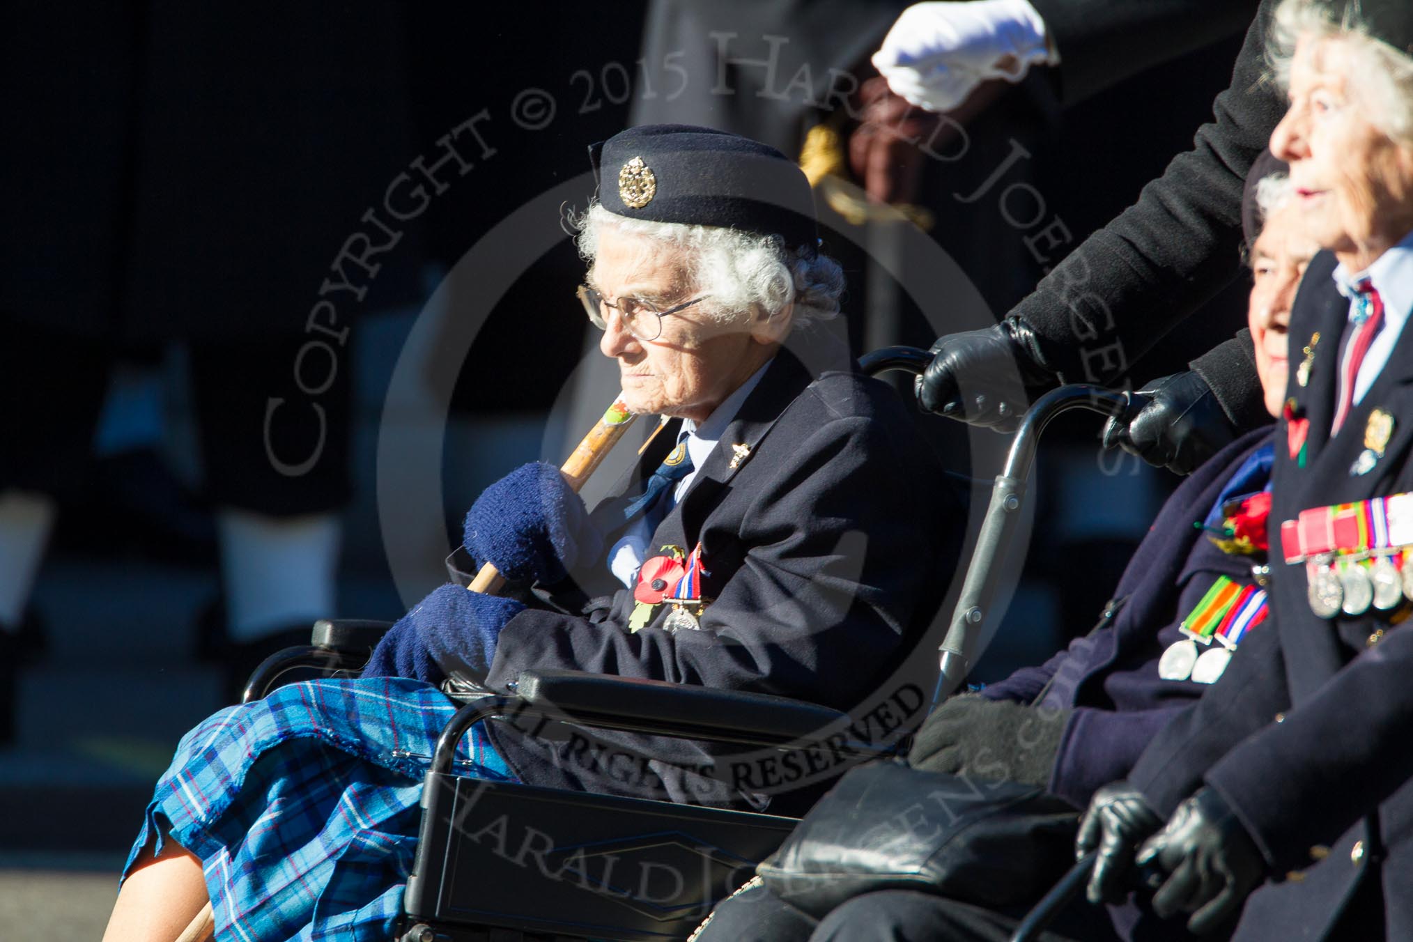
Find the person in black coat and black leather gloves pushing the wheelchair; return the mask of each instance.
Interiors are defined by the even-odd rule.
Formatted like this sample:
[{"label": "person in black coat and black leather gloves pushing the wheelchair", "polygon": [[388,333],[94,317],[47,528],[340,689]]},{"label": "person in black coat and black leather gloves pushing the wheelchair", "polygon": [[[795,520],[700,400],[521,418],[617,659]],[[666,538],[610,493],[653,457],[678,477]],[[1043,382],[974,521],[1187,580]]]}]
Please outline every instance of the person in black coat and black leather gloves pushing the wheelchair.
[{"label": "person in black coat and black leather gloves pushing the wheelchair", "polygon": [[[1169,329],[1239,271],[1242,181],[1283,112],[1263,81],[1276,0],[1263,0],[1246,32],[1215,120],[1197,131],[1137,203],[1094,233],[995,328],[940,338],[918,380],[927,410],[1009,428],[1029,397],[1056,383],[1121,376]],[[1057,23],[1081,24],[1051,16]],[[1088,4],[1081,4],[1087,7]],[[1121,23],[1130,4],[1099,3]],[[1063,35],[1057,37],[1061,59]],[[1113,424],[1108,441],[1187,473],[1241,429],[1265,421],[1251,342],[1236,338],[1191,363],[1191,374],[1149,388],[1153,404]]]}]

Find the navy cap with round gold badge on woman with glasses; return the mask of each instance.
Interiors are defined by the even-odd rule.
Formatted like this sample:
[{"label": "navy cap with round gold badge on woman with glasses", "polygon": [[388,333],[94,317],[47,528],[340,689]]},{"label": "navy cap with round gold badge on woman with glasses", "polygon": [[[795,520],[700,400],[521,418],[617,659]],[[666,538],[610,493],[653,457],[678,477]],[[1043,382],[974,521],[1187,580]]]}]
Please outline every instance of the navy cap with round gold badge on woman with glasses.
[{"label": "navy cap with round gold badge on woman with glasses", "polygon": [[643,124],[589,147],[599,203],[650,222],[781,236],[814,251],[814,193],[774,147],[691,124]]}]

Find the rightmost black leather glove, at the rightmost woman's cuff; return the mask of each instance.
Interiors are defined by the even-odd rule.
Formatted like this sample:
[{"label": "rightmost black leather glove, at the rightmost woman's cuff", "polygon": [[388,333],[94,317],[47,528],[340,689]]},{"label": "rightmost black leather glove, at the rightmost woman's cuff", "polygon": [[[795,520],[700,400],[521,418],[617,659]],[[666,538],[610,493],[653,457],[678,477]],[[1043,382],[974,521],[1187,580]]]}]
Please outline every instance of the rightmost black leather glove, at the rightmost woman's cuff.
[{"label": "rightmost black leather glove, at the rightmost woman's cuff", "polygon": [[1153,894],[1153,912],[1191,912],[1187,928],[1205,935],[1235,917],[1266,878],[1266,861],[1219,794],[1202,788],[1184,801],[1139,850],[1139,866],[1156,864],[1167,880]]}]

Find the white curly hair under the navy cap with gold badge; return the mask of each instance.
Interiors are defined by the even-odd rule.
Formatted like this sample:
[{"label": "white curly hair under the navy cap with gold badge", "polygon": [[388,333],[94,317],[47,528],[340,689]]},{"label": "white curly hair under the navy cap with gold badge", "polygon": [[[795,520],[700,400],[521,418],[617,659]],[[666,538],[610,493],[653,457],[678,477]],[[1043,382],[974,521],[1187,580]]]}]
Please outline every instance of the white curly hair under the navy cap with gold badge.
[{"label": "white curly hair under the navy cap with gold badge", "polygon": [[791,328],[828,321],[839,314],[844,270],[824,254],[805,256],[784,247],[780,236],[682,223],[627,219],[598,201],[571,215],[578,229],[574,244],[593,264],[605,229],[681,250],[694,290],[706,295],[705,309],[719,321],[743,319],[750,311],[773,318],[791,304]]}]

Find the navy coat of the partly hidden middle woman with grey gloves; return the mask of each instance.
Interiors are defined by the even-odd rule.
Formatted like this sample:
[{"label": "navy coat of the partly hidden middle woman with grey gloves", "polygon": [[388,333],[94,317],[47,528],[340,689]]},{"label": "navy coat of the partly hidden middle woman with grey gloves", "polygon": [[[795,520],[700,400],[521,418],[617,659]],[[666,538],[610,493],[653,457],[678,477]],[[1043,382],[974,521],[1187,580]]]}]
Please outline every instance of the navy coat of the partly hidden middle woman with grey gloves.
[{"label": "navy coat of the partly hidden middle woman with grey gloves", "polygon": [[1251,556],[1222,552],[1193,524],[1207,517],[1228,479],[1269,438],[1269,428],[1248,432],[1169,497],[1119,579],[1113,616],[1043,665],[982,691],[991,699],[1041,698],[1043,706],[1072,710],[1048,788],[1075,806],[1084,808],[1099,785],[1123,778],[1153,736],[1210,689],[1161,679],[1157,661],[1181,640],[1183,617],[1217,576],[1252,582]]}]

